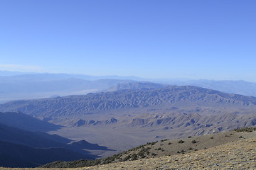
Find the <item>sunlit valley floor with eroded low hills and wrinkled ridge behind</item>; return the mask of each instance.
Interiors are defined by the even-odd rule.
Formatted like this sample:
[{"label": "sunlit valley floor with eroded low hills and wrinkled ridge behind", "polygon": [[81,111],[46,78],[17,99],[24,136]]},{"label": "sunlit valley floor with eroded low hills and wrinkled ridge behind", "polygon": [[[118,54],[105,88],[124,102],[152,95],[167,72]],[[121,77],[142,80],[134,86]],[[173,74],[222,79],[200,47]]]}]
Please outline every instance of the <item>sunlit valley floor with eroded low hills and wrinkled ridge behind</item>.
[{"label": "sunlit valley floor with eroded low hills and wrinkled ridge behind", "polygon": [[13,101],[0,105],[0,110],[22,111],[62,126],[50,134],[110,148],[88,150],[99,157],[145,142],[256,125],[255,97],[196,86],[138,86],[85,96]]}]

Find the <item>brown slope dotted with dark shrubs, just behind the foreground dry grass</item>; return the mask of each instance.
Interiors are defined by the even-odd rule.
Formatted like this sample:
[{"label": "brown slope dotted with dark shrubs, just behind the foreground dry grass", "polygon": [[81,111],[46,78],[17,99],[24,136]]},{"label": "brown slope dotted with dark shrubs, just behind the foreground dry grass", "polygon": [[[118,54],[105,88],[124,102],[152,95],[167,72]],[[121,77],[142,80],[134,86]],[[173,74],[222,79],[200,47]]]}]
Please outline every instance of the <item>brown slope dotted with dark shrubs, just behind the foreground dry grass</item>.
[{"label": "brown slope dotted with dark shrubs, just behind the foreground dry grass", "polygon": [[[247,132],[245,132],[245,130]],[[218,148],[218,147],[221,147],[221,145],[229,144],[230,142],[235,142],[235,141],[240,141],[245,139],[251,140],[252,137],[256,137],[256,132],[253,132],[253,130],[256,130],[256,127],[244,128],[236,131],[223,132],[223,133],[218,133],[214,135],[205,135],[200,137],[187,137],[181,140],[161,140],[159,142],[150,142],[150,143],[147,143],[146,145],[141,145],[139,147],[129,149],[128,151],[122,152],[120,154],[116,154],[112,157],[107,157],[105,159],[97,159],[95,161],[78,160],[75,162],[52,162],[42,167],[74,168],[74,167],[92,166],[92,165],[99,165],[99,164],[110,164],[114,162],[122,162],[122,164],[126,164],[124,162],[129,162],[134,160],[143,160],[144,162],[147,162],[146,159],[151,161],[152,158],[163,159],[163,157],[171,156],[171,155],[193,154],[198,151],[206,150],[208,148],[213,148],[213,147]],[[253,145],[256,146],[256,141],[254,142],[255,143]],[[222,152],[225,152],[225,151],[223,150]],[[228,157],[228,155],[226,155],[225,157]],[[253,155],[252,155],[252,158],[253,158]],[[252,158],[251,160],[253,162]],[[254,159],[254,161],[256,160]],[[181,164],[180,162],[177,162],[177,163]],[[211,164],[213,165],[213,162]],[[139,167],[139,165],[137,166]],[[97,168],[100,168],[100,167],[101,166],[97,166]],[[102,166],[102,167],[107,167],[107,166]],[[118,167],[121,168],[120,166]],[[126,168],[128,169],[129,167],[127,166]]]}]

